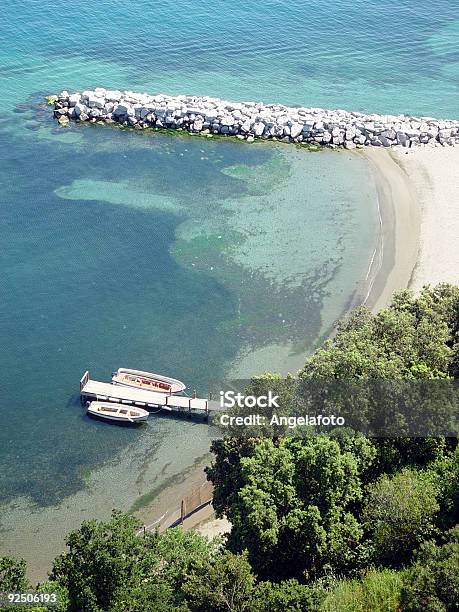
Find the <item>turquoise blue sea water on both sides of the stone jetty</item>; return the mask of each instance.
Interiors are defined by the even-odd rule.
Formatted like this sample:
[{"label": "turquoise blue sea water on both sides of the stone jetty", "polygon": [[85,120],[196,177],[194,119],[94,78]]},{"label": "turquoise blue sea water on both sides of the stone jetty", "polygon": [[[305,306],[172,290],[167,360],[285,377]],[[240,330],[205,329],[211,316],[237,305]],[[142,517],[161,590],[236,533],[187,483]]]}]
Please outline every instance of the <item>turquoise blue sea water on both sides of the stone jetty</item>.
[{"label": "turquoise blue sea water on both sides of the stone jetty", "polygon": [[[356,299],[378,230],[356,156],[64,130],[42,96],[126,87],[457,117],[458,8],[2,3],[2,549],[30,557],[71,506],[72,526],[128,508],[207,448],[202,426],[89,421],[86,368],[163,371],[202,393],[230,372],[286,369]],[[118,474],[91,481],[104,466]]]}]

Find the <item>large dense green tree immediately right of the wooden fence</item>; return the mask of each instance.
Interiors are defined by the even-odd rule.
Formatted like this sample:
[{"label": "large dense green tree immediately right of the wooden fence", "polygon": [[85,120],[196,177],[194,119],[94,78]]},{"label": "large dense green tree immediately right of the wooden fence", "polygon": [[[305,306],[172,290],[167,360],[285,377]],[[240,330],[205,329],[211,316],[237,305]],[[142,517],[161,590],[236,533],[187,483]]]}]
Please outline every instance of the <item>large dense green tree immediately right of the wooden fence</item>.
[{"label": "large dense green tree immediately right of the wooden fence", "polygon": [[263,440],[240,459],[239,490],[225,507],[228,544],[247,548],[260,576],[319,576],[364,562],[363,530],[350,510],[362,498],[359,473],[371,461],[371,443],[342,444],[326,436]]}]

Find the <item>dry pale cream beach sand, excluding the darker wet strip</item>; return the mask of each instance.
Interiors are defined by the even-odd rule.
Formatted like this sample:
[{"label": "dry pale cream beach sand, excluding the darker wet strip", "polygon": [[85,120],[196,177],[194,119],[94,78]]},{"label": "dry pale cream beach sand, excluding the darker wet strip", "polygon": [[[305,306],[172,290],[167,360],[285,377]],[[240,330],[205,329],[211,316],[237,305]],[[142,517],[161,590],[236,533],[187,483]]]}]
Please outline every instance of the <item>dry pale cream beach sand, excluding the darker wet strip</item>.
[{"label": "dry pale cream beach sand, excluding the darker wet strip", "polygon": [[459,148],[394,151],[421,208],[419,255],[410,286],[459,285]]}]

